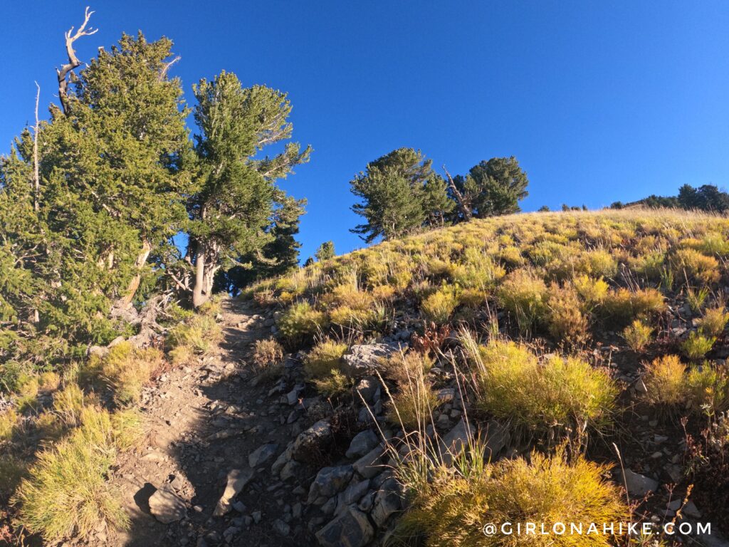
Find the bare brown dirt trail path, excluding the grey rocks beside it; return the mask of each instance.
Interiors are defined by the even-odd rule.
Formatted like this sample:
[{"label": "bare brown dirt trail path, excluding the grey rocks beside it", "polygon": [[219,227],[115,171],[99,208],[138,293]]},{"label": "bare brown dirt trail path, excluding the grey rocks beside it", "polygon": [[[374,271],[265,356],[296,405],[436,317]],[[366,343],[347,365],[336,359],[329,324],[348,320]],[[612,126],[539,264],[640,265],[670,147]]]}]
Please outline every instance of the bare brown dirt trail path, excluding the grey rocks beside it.
[{"label": "bare brown dirt trail path, excluding the grey rocks beside it", "polygon": [[[275,389],[269,394],[270,383],[256,385],[246,366],[254,341],[270,335],[268,323],[249,304],[226,300],[223,338],[214,351],[163,374],[147,389],[142,406],[149,438],[144,448],[122,458],[114,475],[131,527],[126,532],[99,531],[99,544],[316,543],[301,521],[305,492],[272,478],[273,460],[257,470],[249,468],[252,451],[276,443],[278,455],[300,431],[300,425],[286,424],[278,405],[281,394]],[[236,498],[235,508],[225,516],[212,516],[231,470],[252,472],[253,477]],[[164,484],[187,506],[184,519],[171,524],[161,523],[149,511],[149,497]]]}]

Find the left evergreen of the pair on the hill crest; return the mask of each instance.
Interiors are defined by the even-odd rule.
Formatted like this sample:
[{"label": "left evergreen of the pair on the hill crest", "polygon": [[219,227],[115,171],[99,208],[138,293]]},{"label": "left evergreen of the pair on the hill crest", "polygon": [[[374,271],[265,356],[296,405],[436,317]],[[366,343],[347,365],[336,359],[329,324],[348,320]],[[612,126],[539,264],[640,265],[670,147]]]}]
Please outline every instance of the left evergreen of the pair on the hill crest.
[{"label": "left evergreen of the pair on the hill crest", "polygon": [[351,231],[367,243],[443,222],[453,209],[445,182],[433,171],[432,160],[412,148],[398,148],[367,163],[350,185],[352,193],[362,200],[352,211],[367,220]]}]

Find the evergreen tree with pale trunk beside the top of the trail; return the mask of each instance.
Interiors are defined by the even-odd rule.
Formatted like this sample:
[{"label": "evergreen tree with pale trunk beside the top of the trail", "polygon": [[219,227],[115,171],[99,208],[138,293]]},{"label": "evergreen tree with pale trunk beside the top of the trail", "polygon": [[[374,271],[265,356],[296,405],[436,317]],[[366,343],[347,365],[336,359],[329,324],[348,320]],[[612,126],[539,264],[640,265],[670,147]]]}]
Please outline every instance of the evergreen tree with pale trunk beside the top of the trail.
[{"label": "evergreen tree with pale trunk beside the top of the trail", "polygon": [[195,191],[187,203],[187,263],[190,265],[192,304],[205,303],[213,291],[218,271],[238,263],[239,257],[262,256],[275,240],[270,225],[283,178],[299,163],[308,161],[311,148],[286,144],[284,152],[255,159],[269,144],[288,139],[291,105],[284,93],[256,85],[243,89],[235,74],[225,71],[194,88],[195,158],[187,168]]}]

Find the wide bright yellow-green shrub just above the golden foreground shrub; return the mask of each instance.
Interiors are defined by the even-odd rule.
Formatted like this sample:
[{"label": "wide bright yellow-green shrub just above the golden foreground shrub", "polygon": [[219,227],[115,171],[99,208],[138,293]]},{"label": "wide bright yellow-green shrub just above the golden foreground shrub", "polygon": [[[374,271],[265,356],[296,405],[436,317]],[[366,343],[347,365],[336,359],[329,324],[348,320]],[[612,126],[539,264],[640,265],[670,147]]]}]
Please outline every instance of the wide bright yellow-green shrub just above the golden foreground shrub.
[{"label": "wide bright yellow-green shrub just above the golden foreground shrub", "polygon": [[608,373],[573,357],[540,363],[526,346],[491,341],[472,356],[477,406],[526,430],[581,430],[609,422],[617,387]]}]

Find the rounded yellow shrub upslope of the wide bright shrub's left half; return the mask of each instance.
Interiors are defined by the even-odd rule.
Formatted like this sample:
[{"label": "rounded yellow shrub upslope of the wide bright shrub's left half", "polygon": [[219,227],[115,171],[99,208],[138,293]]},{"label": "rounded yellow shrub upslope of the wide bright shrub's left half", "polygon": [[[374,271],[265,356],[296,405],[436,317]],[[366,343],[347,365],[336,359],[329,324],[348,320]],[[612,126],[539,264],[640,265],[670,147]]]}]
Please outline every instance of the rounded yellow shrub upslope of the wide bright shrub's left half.
[{"label": "rounded yellow shrub upslope of the wide bright shrub's left half", "polygon": [[547,286],[532,271],[512,271],[504,278],[497,295],[501,306],[516,318],[522,331],[529,330],[545,315]]}]

